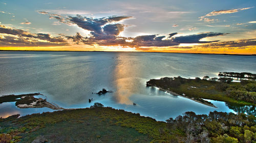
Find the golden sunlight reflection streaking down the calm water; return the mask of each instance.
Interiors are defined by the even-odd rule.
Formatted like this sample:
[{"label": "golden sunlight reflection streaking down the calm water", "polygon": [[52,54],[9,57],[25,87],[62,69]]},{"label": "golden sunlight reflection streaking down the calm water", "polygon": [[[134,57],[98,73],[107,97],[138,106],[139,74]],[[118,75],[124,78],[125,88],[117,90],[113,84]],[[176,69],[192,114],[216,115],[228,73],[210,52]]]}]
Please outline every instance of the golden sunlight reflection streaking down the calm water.
[{"label": "golden sunlight reflection streaking down the calm water", "polygon": [[[121,58],[120,58],[121,57]],[[134,93],[140,93],[142,70],[140,69],[139,57],[131,57],[119,54],[116,58],[114,79],[116,91],[113,99],[119,104],[133,105],[130,97]]]}]

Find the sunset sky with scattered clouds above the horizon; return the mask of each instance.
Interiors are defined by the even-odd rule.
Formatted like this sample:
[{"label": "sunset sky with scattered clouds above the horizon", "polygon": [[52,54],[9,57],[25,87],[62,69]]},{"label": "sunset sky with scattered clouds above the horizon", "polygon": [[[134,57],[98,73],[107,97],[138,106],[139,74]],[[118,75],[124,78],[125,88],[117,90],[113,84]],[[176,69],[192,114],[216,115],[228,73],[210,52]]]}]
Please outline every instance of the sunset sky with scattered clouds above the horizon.
[{"label": "sunset sky with scattered clouds above the horizon", "polygon": [[256,54],[255,15],[255,0],[0,0],[0,50]]}]

